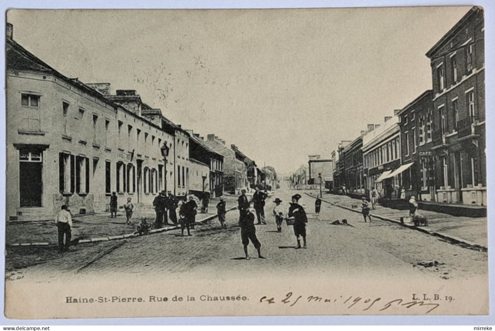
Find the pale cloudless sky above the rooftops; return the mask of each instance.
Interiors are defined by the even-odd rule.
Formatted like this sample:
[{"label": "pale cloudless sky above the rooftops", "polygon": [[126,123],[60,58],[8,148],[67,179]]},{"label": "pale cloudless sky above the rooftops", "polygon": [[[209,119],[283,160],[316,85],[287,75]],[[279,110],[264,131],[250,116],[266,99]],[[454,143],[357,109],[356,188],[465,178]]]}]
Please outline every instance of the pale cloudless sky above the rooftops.
[{"label": "pale cloudless sky above the rooftops", "polygon": [[431,89],[425,53],[470,7],[9,10],[13,38],[69,77],[288,174]]}]

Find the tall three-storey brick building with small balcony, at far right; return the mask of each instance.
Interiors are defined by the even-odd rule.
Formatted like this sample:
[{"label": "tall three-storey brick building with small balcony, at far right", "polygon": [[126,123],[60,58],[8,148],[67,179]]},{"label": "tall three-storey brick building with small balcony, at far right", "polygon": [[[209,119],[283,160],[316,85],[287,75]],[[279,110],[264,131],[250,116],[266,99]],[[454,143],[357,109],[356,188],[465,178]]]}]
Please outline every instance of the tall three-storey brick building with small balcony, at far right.
[{"label": "tall three-storey brick building with small balcony, at far right", "polygon": [[426,53],[437,201],[486,206],[484,13],[471,8]]}]

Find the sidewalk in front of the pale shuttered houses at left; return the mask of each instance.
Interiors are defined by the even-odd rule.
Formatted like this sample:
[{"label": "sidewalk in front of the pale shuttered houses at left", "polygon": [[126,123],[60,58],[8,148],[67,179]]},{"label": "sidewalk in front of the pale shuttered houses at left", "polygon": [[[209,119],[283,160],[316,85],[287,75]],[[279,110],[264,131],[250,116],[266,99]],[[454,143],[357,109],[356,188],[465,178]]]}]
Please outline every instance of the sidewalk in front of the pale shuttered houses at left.
[{"label": "sidewalk in front of the pale shuttered houses at left", "polygon": [[[201,206],[198,206],[196,220],[198,221],[208,216],[216,215],[215,206],[217,202],[218,199],[210,199],[208,213],[205,214],[199,213]],[[237,206],[237,202],[232,199],[226,199],[226,203],[227,208]],[[177,214],[178,212],[177,210]],[[135,211],[131,219],[134,225],[125,224],[125,213],[122,212],[117,213],[117,218],[110,218],[110,213],[76,216],[72,219],[72,240],[120,236],[133,233],[137,230],[137,224],[141,221],[141,218],[147,218],[148,222],[154,222],[154,210],[144,209]],[[171,224],[171,221],[169,223]],[[55,244],[57,242],[57,227],[54,221],[9,222],[5,226],[5,238],[5,244],[7,246],[17,243]]]}]

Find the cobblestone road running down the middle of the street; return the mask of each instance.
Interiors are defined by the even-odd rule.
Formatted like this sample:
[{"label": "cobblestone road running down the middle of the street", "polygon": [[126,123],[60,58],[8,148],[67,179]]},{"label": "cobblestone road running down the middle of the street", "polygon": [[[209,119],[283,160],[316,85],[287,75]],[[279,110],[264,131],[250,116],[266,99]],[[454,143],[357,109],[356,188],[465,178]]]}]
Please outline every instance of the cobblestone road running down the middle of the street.
[{"label": "cobblestone road running down the middle of the street", "polygon": [[[103,242],[76,246],[74,251],[52,260],[13,270],[7,279],[52,281],[54,278],[122,273],[127,276],[159,274],[164,281],[181,276],[202,278],[236,278],[295,273],[311,275],[403,275],[465,279],[487,276],[487,253],[465,249],[439,238],[403,228],[386,221],[365,223],[362,216],[342,208],[322,205],[314,215],[314,199],[304,196],[309,216],[308,248],[294,249],[292,227],[284,224],[277,233],[271,216],[274,197],[288,206],[294,191],[282,191],[270,198],[266,206],[268,225],[256,226],[266,259],[257,259],[252,245],[251,260],[244,259],[237,226],[238,212],[227,214],[228,229],[222,230],[217,220],[197,225],[193,236],[181,237],[180,230],[154,234],[124,242]],[[332,225],[347,219],[352,226]],[[421,263],[438,262],[423,267]],[[39,264],[36,264],[39,263]]]}]

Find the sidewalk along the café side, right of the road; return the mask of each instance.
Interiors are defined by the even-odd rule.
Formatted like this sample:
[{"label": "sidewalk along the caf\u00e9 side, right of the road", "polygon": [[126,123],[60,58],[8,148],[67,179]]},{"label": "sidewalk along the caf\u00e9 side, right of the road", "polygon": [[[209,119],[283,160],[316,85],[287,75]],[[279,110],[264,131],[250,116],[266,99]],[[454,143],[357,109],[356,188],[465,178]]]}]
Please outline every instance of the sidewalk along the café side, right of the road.
[{"label": "sidewalk along the caf\u00e9 side, right of the road", "polygon": [[[309,192],[309,194],[316,196],[316,193]],[[357,206],[356,210],[360,210],[361,208],[360,200],[352,199],[345,195],[323,193],[323,199],[348,208],[352,208],[352,205],[354,205],[354,207]],[[376,205],[375,210],[372,210],[371,214],[399,221],[401,217],[408,216],[409,212]],[[418,214],[428,219],[428,226],[425,229],[429,231],[440,232],[488,247],[488,220],[486,217],[470,218],[451,216],[425,210],[418,210]]]}]

